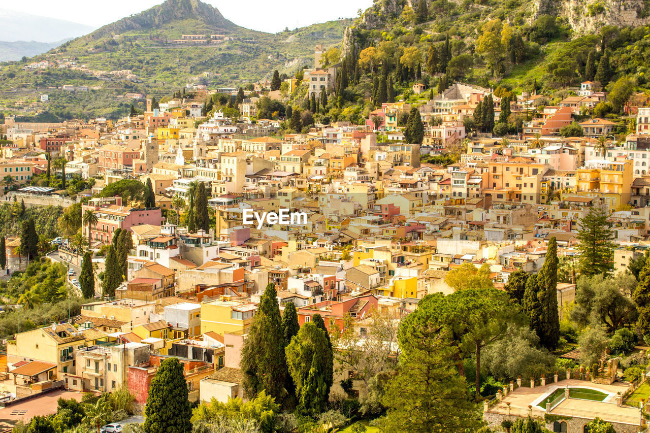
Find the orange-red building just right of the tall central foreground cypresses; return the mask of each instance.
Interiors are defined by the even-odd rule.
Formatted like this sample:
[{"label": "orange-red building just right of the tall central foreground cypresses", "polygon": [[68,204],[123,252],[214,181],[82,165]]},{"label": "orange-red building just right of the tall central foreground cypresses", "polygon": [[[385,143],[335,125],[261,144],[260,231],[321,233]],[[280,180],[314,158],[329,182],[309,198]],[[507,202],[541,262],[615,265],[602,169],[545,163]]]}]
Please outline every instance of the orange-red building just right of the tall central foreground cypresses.
[{"label": "orange-red building just right of the tall central foreground cypresses", "polygon": [[320,314],[325,321],[328,331],[335,326],[339,330],[344,328],[344,317],[350,313],[352,319],[361,319],[370,314],[372,309],[377,308],[377,298],[374,295],[358,296],[356,298],[343,297],[341,301],[326,300],[311,304],[309,306],[298,307],[298,322],[300,326],[305,322],[311,322],[311,316],[316,313]]}]

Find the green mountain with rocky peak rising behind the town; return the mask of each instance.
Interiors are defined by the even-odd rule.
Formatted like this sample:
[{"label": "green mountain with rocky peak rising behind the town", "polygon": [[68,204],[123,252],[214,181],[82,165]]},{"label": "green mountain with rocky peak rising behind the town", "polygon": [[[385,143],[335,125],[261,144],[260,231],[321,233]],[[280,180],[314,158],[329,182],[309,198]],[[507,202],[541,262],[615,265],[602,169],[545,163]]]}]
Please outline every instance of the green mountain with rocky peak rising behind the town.
[{"label": "green mountain with rocky peak rising behind the town", "polygon": [[[351,24],[344,19],[271,34],[235,25],[199,0],[166,0],[28,60],[48,60],[62,68],[35,71],[25,70],[23,62],[0,64],[0,113],[116,118],[131,103],[144,108],[142,100],[123,98],[127,93],[161,99],[188,83],[240,86],[270,79],[276,69],[292,75],[313,66],[317,44],[341,44],[343,29]],[[193,42],[184,34],[208,38]],[[84,85],[90,91],[63,91],[63,85]],[[38,92],[47,92],[49,101],[37,101]],[[30,103],[26,112],[15,108]]]}]

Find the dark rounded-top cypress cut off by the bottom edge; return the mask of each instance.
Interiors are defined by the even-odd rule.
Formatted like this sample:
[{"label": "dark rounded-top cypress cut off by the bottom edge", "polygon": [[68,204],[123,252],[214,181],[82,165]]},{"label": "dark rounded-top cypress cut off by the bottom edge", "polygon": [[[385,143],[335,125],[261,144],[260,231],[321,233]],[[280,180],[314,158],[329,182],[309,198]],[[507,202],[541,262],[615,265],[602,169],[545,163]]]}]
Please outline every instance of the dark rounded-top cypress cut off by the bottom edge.
[{"label": "dark rounded-top cypress cut off by the bottom edge", "polygon": [[144,406],[144,431],[147,433],[190,433],[192,409],[187,399],[183,364],[166,358],[151,379]]}]

